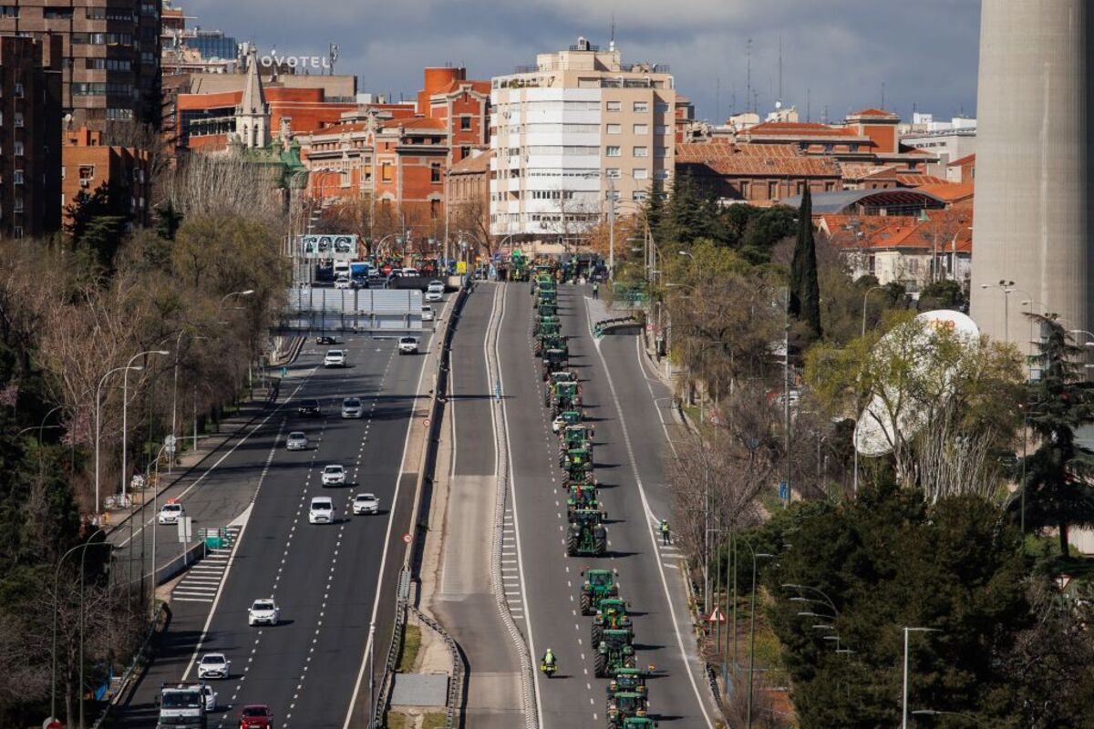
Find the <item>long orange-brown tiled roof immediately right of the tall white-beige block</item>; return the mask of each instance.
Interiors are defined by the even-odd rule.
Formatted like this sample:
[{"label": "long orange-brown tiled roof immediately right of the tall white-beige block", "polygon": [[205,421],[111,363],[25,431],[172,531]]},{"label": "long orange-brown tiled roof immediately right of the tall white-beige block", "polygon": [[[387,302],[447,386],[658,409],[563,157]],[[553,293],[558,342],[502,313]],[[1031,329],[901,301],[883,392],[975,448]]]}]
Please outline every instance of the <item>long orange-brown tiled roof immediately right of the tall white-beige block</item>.
[{"label": "long orange-brown tiled roof immediately right of the tall white-beige block", "polygon": [[828,157],[806,156],[785,144],[676,145],[676,164],[703,164],[719,175],[839,177]]}]

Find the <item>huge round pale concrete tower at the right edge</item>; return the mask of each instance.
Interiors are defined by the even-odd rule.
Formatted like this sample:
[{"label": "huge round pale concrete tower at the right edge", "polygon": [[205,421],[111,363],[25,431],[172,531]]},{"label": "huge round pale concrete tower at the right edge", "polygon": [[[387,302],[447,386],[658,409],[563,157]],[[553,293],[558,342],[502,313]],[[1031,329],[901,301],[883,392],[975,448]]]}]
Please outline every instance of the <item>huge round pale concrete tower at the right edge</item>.
[{"label": "huge round pale concrete tower at the right edge", "polygon": [[[1087,0],[982,2],[971,315],[1022,352],[1023,311],[1047,307],[1069,329],[1094,324],[1092,19]],[[1004,294],[1000,281],[1014,291]]]}]

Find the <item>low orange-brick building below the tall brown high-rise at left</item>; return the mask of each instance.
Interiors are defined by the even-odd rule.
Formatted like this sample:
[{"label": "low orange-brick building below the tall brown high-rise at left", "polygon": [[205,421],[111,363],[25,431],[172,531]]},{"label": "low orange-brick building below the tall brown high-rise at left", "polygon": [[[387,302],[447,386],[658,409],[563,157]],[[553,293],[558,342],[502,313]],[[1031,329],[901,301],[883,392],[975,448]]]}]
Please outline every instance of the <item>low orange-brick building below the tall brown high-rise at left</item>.
[{"label": "low orange-brick building below the tall brown high-rise at left", "polygon": [[83,127],[65,134],[61,148],[61,211],[81,192],[92,195],[106,185],[133,223],[149,221],[149,154],[146,150],[103,144],[100,131]]}]

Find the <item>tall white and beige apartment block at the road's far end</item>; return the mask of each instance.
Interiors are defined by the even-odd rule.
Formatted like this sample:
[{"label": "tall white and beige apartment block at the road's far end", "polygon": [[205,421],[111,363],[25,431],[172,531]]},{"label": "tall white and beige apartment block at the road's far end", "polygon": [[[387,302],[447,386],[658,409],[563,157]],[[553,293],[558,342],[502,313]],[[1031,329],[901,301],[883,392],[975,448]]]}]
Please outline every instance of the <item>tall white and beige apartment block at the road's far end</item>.
[{"label": "tall white and beige apartment block at the road's far end", "polygon": [[585,38],[491,81],[490,228],[566,238],[627,213],[674,168],[677,95],[670,69],[624,63]]}]

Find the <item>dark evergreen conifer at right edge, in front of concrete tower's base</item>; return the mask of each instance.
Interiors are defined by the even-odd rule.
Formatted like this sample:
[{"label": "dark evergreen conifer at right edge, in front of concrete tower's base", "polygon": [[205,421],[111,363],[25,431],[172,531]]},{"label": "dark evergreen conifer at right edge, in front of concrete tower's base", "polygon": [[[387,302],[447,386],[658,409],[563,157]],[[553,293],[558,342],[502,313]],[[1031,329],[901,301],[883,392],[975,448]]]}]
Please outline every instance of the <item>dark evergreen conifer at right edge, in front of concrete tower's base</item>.
[{"label": "dark evergreen conifer at right edge, in front of concrete tower's base", "polygon": [[1072,343],[1056,319],[1026,316],[1038,321],[1043,332],[1037,344],[1041,375],[1028,386],[1026,416],[1039,445],[1033,454],[1019,459],[1017,471],[1020,478],[1025,474],[1025,480],[1011,509],[1034,529],[1056,527],[1060,552],[1067,556],[1068,527],[1094,525],[1094,451],[1075,442],[1075,431],[1094,422],[1094,393],[1091,384],[1084,381],[1080,358],[1084,350]]}]

